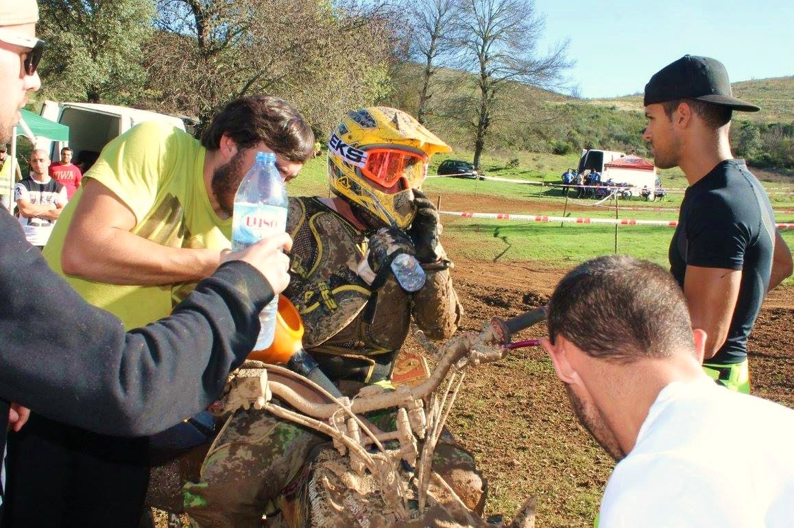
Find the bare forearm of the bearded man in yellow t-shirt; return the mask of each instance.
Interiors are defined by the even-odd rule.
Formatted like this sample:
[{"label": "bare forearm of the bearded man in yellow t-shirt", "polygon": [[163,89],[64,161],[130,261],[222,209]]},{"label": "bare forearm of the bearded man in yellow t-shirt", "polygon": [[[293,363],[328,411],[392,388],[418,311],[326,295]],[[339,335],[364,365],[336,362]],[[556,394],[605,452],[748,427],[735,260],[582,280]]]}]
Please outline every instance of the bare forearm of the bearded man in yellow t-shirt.
[{"label": "bare forearm of the bearded man in yellow t-shirt", "polygon": [[170,285],[209,277],[220,251],[167,247],[121,229],[106,228],[94,243],[64,242],[64,274],[118,285]]}]

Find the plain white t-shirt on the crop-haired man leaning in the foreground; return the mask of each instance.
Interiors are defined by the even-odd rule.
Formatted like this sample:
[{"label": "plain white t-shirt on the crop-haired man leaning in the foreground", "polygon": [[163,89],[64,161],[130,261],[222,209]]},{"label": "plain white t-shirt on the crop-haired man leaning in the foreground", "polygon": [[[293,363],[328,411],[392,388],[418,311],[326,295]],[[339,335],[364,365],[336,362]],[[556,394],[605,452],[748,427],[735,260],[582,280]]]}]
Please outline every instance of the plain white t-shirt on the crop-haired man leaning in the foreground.
[{"label": "plain white t-shirt on the crop-haired man leaning in the foreground", "polygon": [[599,528],[794,526],[794,411],[672,383],[607,482]]}]

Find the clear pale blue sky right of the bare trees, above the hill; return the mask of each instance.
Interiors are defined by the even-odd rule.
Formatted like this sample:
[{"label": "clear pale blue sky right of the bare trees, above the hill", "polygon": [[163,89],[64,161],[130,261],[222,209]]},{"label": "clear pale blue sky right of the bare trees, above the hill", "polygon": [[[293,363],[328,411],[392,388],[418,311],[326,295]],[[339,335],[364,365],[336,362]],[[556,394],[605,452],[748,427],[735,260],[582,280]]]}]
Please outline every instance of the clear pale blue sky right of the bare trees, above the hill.
[{"label": "clear pale blue sky right of the bare trees, above the hill", "polygon": [[794,75],[792,0],[535,0],[542,48],[570,39],[569,71],[584,98],[642,92],[687,53],[719,59],[730,81]]}]

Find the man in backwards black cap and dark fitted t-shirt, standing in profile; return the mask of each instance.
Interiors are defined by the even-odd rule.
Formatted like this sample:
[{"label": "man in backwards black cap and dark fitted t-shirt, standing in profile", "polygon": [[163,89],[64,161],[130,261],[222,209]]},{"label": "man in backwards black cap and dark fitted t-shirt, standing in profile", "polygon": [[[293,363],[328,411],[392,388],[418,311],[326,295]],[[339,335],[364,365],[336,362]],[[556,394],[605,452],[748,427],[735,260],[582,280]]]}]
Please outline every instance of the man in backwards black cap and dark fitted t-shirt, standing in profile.
[{"label": "man in backwards black cap and dark fitted t-shirt, standing in profile", "polygon": [[703,369],[750,392],[747,337],[766,291],[792,274],[765,189],[730,153],[731,112],[759,108],[733,97],[722,63],[693,55],[651,77],[645,107],[654,164],[680,166],[689,182],[669,258],[692,327],[707,334]]}]

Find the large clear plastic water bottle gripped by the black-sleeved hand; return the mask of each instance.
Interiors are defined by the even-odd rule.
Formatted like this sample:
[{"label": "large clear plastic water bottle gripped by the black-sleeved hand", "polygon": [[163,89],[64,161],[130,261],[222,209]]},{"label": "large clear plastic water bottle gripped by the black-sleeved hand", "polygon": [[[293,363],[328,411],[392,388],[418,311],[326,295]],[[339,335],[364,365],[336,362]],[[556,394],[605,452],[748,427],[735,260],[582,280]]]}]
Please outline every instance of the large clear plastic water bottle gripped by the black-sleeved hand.
[{"label": "large clear plastic water bottle gripped by the black-sleeved hand", "polygon": [[[254,162],[237,189],[232,220],[232,251],[240,251],[259,242],[265,235],[287,228],[287,189],[279,170],[276,155],[257,152]],[[259,315],[261,330],[253,350],[264,350],[273,342],[279,296],[264,307]]]}]

